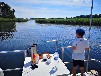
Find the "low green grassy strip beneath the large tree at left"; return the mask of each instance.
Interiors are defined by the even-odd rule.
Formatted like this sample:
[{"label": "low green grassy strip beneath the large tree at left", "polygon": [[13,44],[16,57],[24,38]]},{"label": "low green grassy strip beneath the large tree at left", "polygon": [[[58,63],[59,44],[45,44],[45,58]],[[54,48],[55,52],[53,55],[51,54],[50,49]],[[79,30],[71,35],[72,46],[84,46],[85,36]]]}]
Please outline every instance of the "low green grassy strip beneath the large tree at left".
[{"label": "low green grassy strip beneath the large tree at left", "polygon": [[0,18],[0,22],[26,22],[28,19],[23,18]]}]

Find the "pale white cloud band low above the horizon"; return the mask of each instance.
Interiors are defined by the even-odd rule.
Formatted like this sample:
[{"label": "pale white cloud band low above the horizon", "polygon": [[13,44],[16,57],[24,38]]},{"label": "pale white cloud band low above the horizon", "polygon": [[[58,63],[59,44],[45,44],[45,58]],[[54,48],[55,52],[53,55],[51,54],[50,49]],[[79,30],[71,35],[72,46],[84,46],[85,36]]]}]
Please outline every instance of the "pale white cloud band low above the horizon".
[{"label": "pale white cloud band low above the horizon", "polygon": [[75,15],[79,15],[79,13],[87,13],[85,10],[79,11],[69,11],[65,9],[49,9],[47,7],[33,7],[33,8],[26,8],[21,6],[13,6],[16,10],[15,15],[16,17],[23,17],[23,18],[36,18],[36,17],[73,17]]}]

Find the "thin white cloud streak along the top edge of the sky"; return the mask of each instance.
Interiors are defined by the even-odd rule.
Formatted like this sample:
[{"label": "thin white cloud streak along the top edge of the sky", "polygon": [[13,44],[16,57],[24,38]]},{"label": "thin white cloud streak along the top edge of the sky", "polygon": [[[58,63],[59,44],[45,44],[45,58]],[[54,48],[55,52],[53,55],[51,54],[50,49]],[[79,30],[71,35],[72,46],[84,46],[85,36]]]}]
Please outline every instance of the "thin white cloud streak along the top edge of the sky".
[{"label": "thin white cloud streak along the top edge of the sky", "polygon": [[49,4],[49,5],[71,5],[71,6],[91,6],[91,0],[8,0],[13,3],[22,4]]}]

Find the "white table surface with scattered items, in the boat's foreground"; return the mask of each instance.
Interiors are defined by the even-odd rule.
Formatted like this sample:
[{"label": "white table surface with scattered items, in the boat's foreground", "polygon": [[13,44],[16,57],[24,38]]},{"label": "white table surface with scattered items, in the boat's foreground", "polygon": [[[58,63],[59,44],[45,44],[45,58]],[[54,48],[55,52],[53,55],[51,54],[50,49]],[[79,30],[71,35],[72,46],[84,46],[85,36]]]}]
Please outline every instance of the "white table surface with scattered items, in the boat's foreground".
[{"label": "white table surface with scattered items, in the boat's foreground", "polygon": [[[38,68],[32,70],[31,57],[26,57],[24,61],[23,73],[22,76],[62,76],[69,75],[70,71],[67,69],[65,64],[59,58],[58,61],[55,61],[53,57],[51,58],[51,63],[49,65],[46,62],[39,60]],[[57,68],[54,70],[53,67]]]}]

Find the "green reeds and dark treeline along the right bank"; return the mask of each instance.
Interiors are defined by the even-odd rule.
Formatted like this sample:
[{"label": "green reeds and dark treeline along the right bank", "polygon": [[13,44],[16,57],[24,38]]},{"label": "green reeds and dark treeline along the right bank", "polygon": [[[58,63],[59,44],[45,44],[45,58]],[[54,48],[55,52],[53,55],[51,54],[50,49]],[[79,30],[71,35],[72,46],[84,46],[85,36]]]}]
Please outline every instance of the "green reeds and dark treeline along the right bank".
[{"label": "green reeds and dark treeline along the right bank", "polygon": [[[101,26],[101,14],[92,16],[92,25]],[[66,24],[66,25],[89,25],[90,15],[80,15],[73,18],[34,18],[40,24]]]}]

